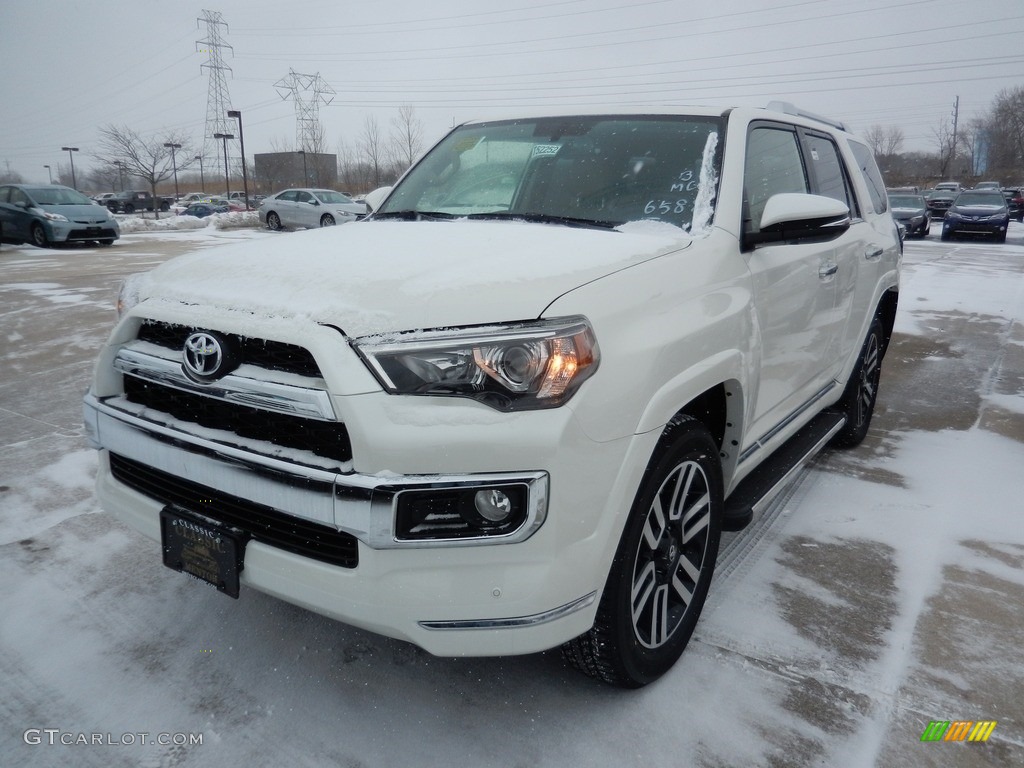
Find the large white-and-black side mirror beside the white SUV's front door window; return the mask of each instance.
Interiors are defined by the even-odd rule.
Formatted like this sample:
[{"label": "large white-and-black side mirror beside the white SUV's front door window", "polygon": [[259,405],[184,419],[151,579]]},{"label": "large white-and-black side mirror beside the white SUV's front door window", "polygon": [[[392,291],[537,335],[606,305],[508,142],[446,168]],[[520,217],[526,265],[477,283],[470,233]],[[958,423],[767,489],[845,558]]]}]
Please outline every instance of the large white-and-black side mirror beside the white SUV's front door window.
[{"label": "large white-and-black side mirror beside the white SUV's front door window", "polygon": [[748,245],[826,243],[850,228],[846,203],[820,195],[773,195],[761,214],[761,231],[744,237]]}]

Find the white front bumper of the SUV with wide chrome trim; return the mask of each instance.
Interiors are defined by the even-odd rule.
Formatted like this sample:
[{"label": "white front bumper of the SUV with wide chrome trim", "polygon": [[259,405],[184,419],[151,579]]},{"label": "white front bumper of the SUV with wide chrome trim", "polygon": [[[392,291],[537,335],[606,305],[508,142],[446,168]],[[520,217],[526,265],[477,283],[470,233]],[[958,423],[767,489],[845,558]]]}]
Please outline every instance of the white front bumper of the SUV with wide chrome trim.
[{"label": "white front bumper of the SUV with wide chrome trim", "polygon": [[[437,655],[529,653],[585,633],[617,544],[616,512],[628,509],[624,500],[639,479],[621,476],[623,465],[631,466],[623,452],[632,440],[595,443],[587,456],[566,451],[566,464],[550,475],[367,475],[206,441],[125,414],[91,394],[84,413],[90,441],[100,449],[97,495],[116,517],[160,540],[166,502],[130,487],[112,471],[112,457],[126,454],[200,486],[351,536],[357,563],[347,566],[254,538],[245,550],[241,583]],[[395,541],[392,502],[400,490],[496,477],[529,483],[535,511],[514,537],[439,545]],[[560,493],[552,493],[551,477],[559,478]],[[546,510],[556,505],[559,519],[546,520]],[[160,557],[158,549],[154,557]]]}]

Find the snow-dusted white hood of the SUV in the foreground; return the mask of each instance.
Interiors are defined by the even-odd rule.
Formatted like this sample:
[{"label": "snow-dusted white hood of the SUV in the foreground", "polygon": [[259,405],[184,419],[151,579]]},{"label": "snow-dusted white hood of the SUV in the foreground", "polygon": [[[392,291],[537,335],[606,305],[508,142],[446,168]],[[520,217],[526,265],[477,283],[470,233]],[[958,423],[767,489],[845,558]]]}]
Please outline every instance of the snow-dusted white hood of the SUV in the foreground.
[{"label": "snow-dusted white hood of the SUV in the foreground", "polygon": [[181,256],[137,290],[143,301],[308,317],[365,336],[536,318],[581,285],[690,243],[654,221],[608,230],[370,220]]}]

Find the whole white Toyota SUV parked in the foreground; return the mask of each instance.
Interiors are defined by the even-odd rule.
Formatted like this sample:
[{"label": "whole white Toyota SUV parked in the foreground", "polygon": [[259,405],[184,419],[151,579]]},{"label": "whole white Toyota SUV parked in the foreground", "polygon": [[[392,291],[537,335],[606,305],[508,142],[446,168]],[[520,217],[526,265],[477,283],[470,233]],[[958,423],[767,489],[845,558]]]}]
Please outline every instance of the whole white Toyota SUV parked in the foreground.
[{"label": "whole white Toyota SUV parked in the foreground", "polygon": [[863,438],[886,206],[867,146],[786,105],[467,123],[365,221],[126,283],[99,498],[229,595],[646,684],[721,531]]}]

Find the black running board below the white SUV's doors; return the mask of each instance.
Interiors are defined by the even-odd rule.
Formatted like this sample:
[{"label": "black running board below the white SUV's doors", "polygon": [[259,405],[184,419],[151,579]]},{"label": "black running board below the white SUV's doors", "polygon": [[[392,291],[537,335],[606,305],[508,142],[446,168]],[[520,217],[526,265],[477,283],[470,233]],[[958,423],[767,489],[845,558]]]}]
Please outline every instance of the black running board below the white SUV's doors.
[{"label": "black running board below the white SUV's doors", "polygon": [[790,484],[804,465],[846,424],[842,414],[824,412],[765,459],[725,500],[723,530],[742,530]]}]

